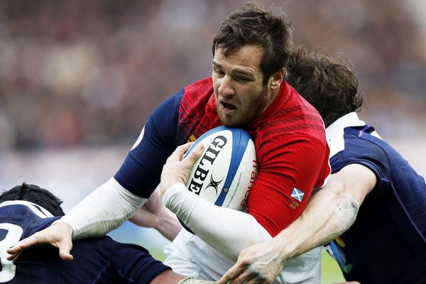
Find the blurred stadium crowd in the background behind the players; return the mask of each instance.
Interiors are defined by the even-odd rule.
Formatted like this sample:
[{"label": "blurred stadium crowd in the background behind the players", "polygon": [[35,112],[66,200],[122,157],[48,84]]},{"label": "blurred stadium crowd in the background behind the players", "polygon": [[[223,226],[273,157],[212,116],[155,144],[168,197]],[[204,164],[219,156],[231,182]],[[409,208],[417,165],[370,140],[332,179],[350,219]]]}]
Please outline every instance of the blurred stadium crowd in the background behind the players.
[{"label": "blurred stadium crowd in the background behind the players", "polygon": [[[243,2],[0,1],[0,151],[133,143],[211,74],[212,37]],[[351,60],[382,136],[426,137],[421,0],[261,2],[283,7],[296,45]]]}]

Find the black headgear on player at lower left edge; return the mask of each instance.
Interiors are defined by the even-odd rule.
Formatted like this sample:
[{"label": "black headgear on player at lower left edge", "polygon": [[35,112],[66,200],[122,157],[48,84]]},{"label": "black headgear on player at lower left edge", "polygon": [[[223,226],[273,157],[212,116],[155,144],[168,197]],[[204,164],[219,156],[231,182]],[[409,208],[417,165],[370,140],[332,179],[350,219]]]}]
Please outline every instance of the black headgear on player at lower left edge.
[{"label": "black headgear on player at lower left edge", "polygon": [[0,195],[0,202],[9,200],[25,200],[38,204],[48,212],[52,213],[53,216],[64,216],[65,213],[62,211],[60,204],[62,200],[52,192],[38,187],[37,185],[27,185],[25,182],[22,185],[17,185],[11,190],[7,190]]}]

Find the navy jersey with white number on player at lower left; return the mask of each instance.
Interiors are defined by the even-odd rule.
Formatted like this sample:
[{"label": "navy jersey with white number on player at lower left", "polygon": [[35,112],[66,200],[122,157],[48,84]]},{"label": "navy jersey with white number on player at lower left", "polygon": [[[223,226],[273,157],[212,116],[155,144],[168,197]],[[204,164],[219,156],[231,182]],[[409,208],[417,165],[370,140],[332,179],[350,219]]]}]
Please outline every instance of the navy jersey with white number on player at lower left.
[{"label": "navy jersey with white number on player at lower left", "polygon": [[146,249],[121,244],[109,236],[73,242],[73,261],[62,261],[58,249],[35,248],[21,253],[18,261],[6,260],[6,249],[59,217],[31,202],[0,204],[0,283],[150,283],[170,269],[156,261]]}]

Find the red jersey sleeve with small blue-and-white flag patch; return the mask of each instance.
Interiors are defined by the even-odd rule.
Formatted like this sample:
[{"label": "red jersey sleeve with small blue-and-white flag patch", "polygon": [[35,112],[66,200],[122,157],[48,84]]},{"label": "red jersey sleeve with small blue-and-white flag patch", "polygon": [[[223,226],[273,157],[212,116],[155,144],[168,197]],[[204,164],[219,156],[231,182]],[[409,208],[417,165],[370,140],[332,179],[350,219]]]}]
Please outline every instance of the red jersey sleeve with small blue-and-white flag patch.
[{"label": "red jersey sleeve with small blue-and-white flag patch", "polygon": [[[292,136],[294,137],[294,136]],[[329,175],[327,145],[311,136],[275,138],[257,153],[259,173],[248,210],[271,236],[291,224],[305,208],[312,190]]]}]

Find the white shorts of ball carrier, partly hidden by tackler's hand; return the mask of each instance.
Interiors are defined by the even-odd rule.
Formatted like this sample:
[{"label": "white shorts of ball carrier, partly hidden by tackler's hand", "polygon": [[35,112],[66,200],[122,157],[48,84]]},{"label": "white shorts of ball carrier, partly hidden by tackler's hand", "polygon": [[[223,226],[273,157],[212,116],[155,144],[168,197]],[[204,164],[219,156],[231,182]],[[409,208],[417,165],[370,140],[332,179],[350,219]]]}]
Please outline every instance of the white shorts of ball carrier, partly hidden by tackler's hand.
[{"label": "white shorts of ball carrier, partly hidden by tackler's hand", "polygon": [[[234,265],[198,236],[182,229],[172,244],[165,246],[165,265],[185,276],[219,280]],[[321,278],[321,248],[312,249],[285,263],[273,284],[318,284]]]}]

